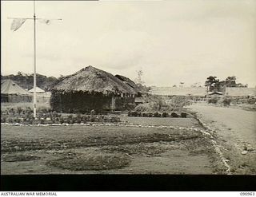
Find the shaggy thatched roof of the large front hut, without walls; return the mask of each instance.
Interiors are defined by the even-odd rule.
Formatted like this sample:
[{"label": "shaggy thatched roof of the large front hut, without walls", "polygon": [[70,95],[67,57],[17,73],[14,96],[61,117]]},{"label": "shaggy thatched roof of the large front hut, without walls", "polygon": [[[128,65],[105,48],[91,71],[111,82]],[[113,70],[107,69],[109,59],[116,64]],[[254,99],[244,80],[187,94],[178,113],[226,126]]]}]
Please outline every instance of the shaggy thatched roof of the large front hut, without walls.
[{"label": "shaggy thatched roof of the large front hut, without walls", "polygon": [[93,66],[87,66],[70,76],[63,77],[53,90],[64,92],[98,92],[98,93],[129,93],[137,94],[137,91],[127,85],[118,77],[114,77],[111,73],[107,73]]}]

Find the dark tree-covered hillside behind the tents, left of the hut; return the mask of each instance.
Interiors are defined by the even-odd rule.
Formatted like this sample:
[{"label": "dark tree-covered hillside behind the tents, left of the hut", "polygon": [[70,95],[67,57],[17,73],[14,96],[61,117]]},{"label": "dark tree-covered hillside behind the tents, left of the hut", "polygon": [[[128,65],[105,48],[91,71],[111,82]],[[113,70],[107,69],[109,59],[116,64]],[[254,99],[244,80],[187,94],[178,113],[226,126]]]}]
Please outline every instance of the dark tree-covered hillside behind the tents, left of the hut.
[{"label": "dark tree-covered hillside behind the tents, left of the hut", "polygon": [[[23,89],[32,89],[34,84],[34,75],[18,72],[17,75],[10,74],[7,76],[1,75],[1,80],[10,79],[20,85]],[[46,77],[41,74],[37,74],[37,86],[40,89],[46,91],[50,90],[50,87],[57,81],[55,77]]]}]

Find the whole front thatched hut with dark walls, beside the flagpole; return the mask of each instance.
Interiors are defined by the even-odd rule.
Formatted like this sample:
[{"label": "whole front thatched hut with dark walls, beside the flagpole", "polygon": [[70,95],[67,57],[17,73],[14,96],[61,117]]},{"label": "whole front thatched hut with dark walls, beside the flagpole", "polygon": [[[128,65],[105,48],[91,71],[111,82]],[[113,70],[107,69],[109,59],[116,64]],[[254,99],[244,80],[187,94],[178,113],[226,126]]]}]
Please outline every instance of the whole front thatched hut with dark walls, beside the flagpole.
[{"label": "whole front thatched hut with dark walls, beside the flagpole", "polygon": [[62,77],[51,90],[51,106],[61,112],[106,112],[134,104],[136,87],[93,66]]}]

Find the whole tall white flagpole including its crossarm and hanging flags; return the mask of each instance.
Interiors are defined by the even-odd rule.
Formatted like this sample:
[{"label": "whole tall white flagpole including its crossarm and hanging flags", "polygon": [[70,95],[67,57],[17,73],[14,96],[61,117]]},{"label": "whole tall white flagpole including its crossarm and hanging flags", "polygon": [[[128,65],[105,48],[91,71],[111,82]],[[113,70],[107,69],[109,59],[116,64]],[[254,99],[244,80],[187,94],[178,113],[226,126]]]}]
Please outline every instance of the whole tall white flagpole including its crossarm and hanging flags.
[{"label": "whole tall white flagpole including its crossarm and hanging flags", "polygon": [[37,117],[37,93],[36,93],[36,87],[37,87],[37,78],[36,78],[36,21],[37,20],[42,20],[42,22],[45,22],[46,24],[49,24],[50,21],[52,20],[62,20],[61,18],[58,19],[46,19],[46,18],[36,18],[35,14],[35,0],[34,2],[34,16],[33,18],[9,18],[9,19],[14,19],[14,22],[11,26],[11,30],[18,30],[22,26],[26,20],[34,20],[34,93],[33,93],[33,115],[34,119]]}]

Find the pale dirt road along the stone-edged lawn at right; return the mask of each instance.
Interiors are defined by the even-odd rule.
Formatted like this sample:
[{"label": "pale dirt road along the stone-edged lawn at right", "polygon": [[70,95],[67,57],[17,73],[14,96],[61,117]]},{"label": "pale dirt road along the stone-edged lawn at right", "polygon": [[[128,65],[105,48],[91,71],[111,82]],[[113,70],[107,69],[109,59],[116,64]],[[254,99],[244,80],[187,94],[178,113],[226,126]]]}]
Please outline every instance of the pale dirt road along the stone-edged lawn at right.
[{"label": "pale dirt road along the stone-edged lawn at right", "polygon": [[235,174],[256,173],[256,112],[206,104],[188,108],[214,130]]}]

